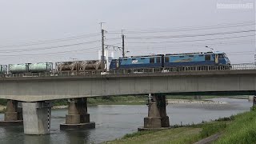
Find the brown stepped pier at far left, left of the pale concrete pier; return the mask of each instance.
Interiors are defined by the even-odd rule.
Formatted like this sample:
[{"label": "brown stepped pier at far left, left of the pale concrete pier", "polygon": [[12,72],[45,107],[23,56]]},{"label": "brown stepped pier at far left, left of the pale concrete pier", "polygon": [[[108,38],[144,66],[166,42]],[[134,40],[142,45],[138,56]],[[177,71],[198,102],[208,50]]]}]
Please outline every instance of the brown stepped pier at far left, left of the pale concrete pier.
[{"label": "brown stepped pier at far left, left of the pale concrete pier", "polygon": [[7,100],[4,121],[0,121],[0,126],[17,126],[22,124],[22,112],[18,111],[18,102]]}]

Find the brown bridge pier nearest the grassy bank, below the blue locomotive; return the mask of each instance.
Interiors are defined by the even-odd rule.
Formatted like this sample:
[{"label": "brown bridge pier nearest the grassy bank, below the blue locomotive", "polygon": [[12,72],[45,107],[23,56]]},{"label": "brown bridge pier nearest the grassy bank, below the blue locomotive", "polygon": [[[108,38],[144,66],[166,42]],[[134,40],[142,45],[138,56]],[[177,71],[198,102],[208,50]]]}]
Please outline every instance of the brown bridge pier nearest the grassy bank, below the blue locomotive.
[{"label": "brown bridge pier nearest the grassy bank, below the blue locomotive", "polygon": [[148,100],[148,117],[144,118],[144,127],[138,130],[162,130],[170,128],[169,117],[166,114],[166,96],[151,94]]}]

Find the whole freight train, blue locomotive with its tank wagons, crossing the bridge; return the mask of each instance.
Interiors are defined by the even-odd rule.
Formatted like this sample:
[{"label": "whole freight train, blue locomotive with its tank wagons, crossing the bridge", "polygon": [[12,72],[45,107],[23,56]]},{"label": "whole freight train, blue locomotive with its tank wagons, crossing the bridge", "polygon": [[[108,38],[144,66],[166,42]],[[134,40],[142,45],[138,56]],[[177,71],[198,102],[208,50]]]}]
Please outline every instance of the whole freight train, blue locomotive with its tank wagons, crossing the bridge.
[{"label": "whole freight train, blue locomotive with its tank wagons, crossing the bridge", "polygon": [[[106,63],[106,62],[105,62]],[[10,64],[9,70],[6,65],[0,65],[0,74],[32,74],[51,73],[59,74],[65,72],[78,72],[78,74],[101,74],[111,73],[118,70],[182,70],[185,66],[225,66],[229,68],[230,60],[223,52],[206,52],[190,54],[157,54],[137,57],[126,57],[112,59],[110,69],[102,70],[100,60],[56,62],[55,69],[53,62]],[[107,67],[107,66],[104,66]]]}]

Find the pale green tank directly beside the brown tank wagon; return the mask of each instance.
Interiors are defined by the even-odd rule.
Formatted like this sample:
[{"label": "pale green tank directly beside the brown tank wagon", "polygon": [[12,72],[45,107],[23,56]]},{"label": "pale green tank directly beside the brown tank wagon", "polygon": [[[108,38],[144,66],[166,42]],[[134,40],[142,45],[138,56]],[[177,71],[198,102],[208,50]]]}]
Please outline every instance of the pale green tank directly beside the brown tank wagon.
[{"label": "pale green tank directly beside the brown tank wagon", "polygon": [[52,70],[53,70],[52,62],[38,62],[38,63],[31,63],[29,65],[30,73],[51,72]]}]

